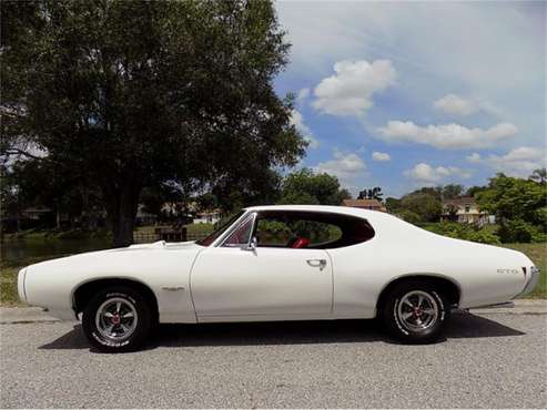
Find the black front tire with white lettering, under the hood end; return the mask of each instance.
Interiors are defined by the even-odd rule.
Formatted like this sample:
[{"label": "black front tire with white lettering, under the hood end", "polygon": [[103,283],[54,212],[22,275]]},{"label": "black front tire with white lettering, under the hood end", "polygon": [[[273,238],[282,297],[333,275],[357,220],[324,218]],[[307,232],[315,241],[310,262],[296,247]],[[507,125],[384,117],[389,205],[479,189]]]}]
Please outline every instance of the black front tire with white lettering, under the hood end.
[{"label": "black front tire with white lettering, under the hood end", "polygon": [[[119,310],[125,311],[122,318],[120,311],[115,312],[115,307],[120,303]],[[111,315],[107,312],[105,315],[98,316],[98,310],[104,311],[109,306],[114,309],[114,315],[118,317],[118,324],[113,325],[113,331],[111,335],[117,335],[114,330],[119,329],[120,335],[107,337],[105,334],[108,326],[103,327],[101,324],[109,320],[105,315]],[[126,286],[114,286],[102,289],[98,291],[91,300],[88,303],[83,309],[82,315],[82,328],[89,342],[100,351],[104,352],[122,352],[132,351],[142,346],[146,340],[153,325],[156,315],[151,309],[150,303],[135,289]],[[133,318],[133,321],[129,321]],[[114,319],[111,318],[112,322],[105,322],[105,325],[112,325]],[[125,324],[122,320],[128,320]],[[98,322],[99,321],[99,322]],[[121,328],[122,325],[125,328],[130,328],[131,331],[124,331]],[[99,327],[98,327],[99,326]],[[102,331],[101,329],[102,328]]]}]

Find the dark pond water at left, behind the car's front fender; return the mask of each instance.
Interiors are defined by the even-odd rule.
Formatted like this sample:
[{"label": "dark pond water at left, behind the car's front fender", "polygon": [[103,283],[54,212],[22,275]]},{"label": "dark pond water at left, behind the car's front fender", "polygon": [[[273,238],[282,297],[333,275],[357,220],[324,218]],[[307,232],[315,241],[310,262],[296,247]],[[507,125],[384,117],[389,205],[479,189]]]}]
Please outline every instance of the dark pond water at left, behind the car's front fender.
[{"label": "dark pond water at left, behind the car's front fender", "polygon": [[38,260],[111,247],[112,240],[108,238],[16,239],[2,242],[1,259],[2,264],[23,266]]}]

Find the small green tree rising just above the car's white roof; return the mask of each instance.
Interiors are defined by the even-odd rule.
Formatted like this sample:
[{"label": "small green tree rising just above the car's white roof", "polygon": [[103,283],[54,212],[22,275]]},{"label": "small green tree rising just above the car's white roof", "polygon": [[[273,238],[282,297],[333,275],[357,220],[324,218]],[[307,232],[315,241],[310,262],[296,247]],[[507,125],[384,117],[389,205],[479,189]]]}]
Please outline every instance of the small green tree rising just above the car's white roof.
[{"label": "small green tree rising just above the car's white roof", "polygon": [[335,176],[303,168],[285,177],[278,203],[340,205],[350,197],[350,193],[340,187]]}]

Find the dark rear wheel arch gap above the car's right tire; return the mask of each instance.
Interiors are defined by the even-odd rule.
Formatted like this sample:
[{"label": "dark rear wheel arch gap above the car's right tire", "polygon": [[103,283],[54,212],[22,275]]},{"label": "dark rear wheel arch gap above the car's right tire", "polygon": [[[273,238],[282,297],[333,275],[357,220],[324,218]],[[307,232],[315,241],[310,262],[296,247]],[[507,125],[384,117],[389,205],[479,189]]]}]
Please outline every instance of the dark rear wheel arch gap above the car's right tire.
[{"label": "dark rear wheel arch gap above the car's right tire", "polygon": [[389,295],[391,290],[395,286],[406,280],[416,280],[416,279],[435,284],[446,295],[450,304],[450,307],[459,306],[459,301],[462,300],[462,287],[456,280],[448,278],[444,275],[434,274],[434,273],[412,273],[412,274],[397,276],[384,286],[384,288],[378,295],[378,298],[376,299],[376,306],[375,306],[376,316],[382,310],[382,307],[386,303],[387,296]]}]

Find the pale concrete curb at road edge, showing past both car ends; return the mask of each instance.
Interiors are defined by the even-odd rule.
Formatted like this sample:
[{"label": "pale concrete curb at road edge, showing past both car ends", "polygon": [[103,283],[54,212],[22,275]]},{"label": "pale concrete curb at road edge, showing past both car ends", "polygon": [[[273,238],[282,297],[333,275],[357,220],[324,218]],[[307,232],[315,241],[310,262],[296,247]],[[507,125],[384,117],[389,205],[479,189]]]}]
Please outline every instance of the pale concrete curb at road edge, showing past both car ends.
[{"label": "pale concrete curb at road edge, showing past both car ends", "polygon": [[[514,300],[513,308],[477,308],[474,315],[547,315],[547,299]],[[465,310],[458,312],[466,312]],[[50,316],[40,307],[0,307],[0,325],[55,324],[60,319]],[[72,320],[70,320],[72,321]]]}]

